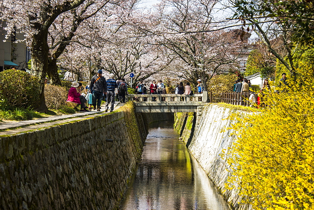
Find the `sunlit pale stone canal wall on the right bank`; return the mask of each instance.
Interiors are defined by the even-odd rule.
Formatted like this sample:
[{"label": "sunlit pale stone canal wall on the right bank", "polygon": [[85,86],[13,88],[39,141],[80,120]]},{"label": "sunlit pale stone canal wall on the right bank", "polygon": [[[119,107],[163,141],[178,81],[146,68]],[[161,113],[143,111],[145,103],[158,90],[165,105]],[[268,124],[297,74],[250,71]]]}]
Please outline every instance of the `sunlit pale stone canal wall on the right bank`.
[{"label": "sunlit pale stone canal wall on the right bank", "polygon": [[[225,188],[230,165],[222,158],[221,154],[235,141],[235,135],[230,136],[232,130],[223,131],[230,127],[231,120],[227,120],[231,110],[220,105],[207,105],[197,113],[176,113],[175,127],[181,133],[192,155],[198,160],[208,177],[222,193],[234,209],[248,209],[247,205],[239,205],[241,197],[237,191]],[[194,125],[193,125],[194,123]]]}]

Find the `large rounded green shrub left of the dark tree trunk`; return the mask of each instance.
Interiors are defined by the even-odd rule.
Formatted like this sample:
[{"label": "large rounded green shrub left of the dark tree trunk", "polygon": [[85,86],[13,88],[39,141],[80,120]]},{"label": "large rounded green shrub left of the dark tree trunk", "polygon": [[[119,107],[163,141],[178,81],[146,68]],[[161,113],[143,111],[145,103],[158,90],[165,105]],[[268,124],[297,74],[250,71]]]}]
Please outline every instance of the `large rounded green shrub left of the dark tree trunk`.
[{"label": "large rounded green shrub left of the dark tree trunk", "polygon": [[5,103],[15,107],[37,107],[40,97],[39,78],[20,70],[0,73],[0,94]]}]

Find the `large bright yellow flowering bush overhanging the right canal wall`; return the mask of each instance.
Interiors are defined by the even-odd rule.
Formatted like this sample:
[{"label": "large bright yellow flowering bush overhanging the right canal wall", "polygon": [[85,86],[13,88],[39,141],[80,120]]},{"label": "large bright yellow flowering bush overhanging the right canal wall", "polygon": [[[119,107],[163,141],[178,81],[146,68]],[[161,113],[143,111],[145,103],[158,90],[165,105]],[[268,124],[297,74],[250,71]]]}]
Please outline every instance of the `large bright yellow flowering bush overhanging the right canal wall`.
[{"label": "large bright yellow flowering bush overhanging the right canal wall", "polygon": [[[235,114],[238,140],[225,155],[237,188],[253,209],[314,209],[314,79],[265,92],[265,108]],[[306,78],[306,79],[304,79]]]}]

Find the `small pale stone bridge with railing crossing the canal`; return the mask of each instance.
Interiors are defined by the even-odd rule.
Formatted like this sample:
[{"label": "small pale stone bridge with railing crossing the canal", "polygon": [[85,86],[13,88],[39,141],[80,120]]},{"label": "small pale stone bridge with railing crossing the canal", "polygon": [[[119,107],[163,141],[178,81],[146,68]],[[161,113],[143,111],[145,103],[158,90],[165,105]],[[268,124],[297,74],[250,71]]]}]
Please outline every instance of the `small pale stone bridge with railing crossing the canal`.
[{"label": "small pale stone bridge with railing crossing the canal", "polygon": [[197,108],[207,102],[207,91],[193,95],[129,94],[128,100],[134,102],[135,112],[197,112]]}]

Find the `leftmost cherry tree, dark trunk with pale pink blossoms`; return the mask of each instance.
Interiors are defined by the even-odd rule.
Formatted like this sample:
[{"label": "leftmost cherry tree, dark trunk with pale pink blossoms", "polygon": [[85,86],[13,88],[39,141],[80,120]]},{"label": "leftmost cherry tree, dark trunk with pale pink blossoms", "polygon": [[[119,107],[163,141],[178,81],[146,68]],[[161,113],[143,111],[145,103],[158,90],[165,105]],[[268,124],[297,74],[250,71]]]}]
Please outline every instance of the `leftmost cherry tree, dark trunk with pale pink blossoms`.
[{"label": "leftmost cherry tree, dark trunk with pale pink blossoms", "polygon": [[32,53],[32,70],[40,77],[41,95],[39,111],[47,111],[44,95],[44,81],[48,67],[48,31],[57,17],[83,4],[85,0],[2,0],[0,18],[6,21],[8,34],[23,33]]}]

